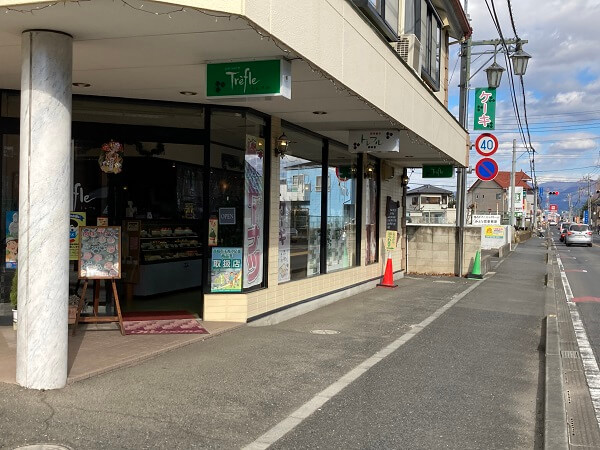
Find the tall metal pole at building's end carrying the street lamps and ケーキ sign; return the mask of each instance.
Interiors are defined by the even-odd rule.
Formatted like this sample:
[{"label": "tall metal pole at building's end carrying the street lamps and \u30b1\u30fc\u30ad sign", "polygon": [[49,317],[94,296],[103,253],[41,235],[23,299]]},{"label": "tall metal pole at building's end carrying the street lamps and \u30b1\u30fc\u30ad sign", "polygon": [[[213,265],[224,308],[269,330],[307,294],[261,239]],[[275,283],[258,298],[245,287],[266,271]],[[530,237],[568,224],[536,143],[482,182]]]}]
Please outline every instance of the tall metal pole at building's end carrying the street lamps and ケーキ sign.
[{"label": "tall metal pole at building's end carrying the street lamps and \u30b1\u30fc\u30ad sign", "polygon": [[[471,38],[461,43],[460,51],[460,96],[458,103],[458,121],[467,129],[469,116],[469,72],[471,66]],[[467,150],[468,151],[468,150]],[[467,168],[459,167],[456,177],[456,272],[459,277],[463,274],[465,208],[467,197]]]}]

